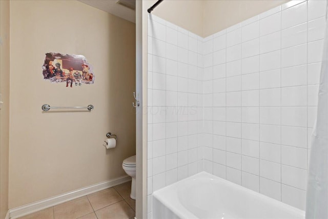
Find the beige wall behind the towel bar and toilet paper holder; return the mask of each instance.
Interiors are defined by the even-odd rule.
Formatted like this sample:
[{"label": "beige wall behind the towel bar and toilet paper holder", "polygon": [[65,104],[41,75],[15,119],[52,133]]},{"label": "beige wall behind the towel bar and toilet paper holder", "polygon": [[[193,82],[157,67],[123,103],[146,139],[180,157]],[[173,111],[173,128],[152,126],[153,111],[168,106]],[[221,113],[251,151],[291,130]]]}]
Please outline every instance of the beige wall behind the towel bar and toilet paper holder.
[{"label": "beige wall behind the towel bar and toilet paper holder", "polygon": [[[77,1],[11,1],[10,19],[9,208],[125,175],[122,161],[135,154],[135,24]],[[94,85],[44,81],[47,52],[85,55]],[[106,150],[109,131],[118,142]]]}]

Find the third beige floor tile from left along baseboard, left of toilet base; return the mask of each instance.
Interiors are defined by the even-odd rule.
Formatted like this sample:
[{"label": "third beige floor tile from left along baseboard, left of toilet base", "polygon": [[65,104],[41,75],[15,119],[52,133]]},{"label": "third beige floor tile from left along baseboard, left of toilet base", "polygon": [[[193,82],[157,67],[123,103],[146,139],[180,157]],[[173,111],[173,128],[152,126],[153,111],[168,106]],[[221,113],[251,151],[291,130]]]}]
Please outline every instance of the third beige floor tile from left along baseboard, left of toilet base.
[{"label": "third beige floor tile from left along baseboard, left of toilet base", "polygon": [[88,198],[95,211],[122,200],[122,197],[113,188],[88,195]]}]

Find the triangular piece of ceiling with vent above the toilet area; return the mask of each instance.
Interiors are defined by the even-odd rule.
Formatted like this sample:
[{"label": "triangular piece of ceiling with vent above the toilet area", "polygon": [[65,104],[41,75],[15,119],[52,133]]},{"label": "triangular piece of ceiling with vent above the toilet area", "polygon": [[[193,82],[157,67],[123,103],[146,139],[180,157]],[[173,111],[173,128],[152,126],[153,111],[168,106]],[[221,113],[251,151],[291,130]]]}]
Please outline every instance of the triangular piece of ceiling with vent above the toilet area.
[{"label": "triangular piece of ceiling with vent above the toilet area", "polygon": [[[114,14],[135,23],[135,0],[78,0],[94,8]],[[127,5],[123,6],[121,4]]]}]

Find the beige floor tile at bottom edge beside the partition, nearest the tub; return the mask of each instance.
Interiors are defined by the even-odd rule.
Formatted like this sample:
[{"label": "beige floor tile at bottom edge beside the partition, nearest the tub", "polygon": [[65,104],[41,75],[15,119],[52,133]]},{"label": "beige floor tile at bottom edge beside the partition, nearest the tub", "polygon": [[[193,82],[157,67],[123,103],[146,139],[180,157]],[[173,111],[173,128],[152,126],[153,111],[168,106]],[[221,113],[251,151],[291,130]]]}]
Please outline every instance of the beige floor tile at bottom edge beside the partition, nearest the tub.
[{"label": "beige floor tile at bottom edge beside the partition, nearest the tub", "polygon": [[125,202],[120,201],[96,211],[98,219],[128,219],[135,215],[134,210]]}]

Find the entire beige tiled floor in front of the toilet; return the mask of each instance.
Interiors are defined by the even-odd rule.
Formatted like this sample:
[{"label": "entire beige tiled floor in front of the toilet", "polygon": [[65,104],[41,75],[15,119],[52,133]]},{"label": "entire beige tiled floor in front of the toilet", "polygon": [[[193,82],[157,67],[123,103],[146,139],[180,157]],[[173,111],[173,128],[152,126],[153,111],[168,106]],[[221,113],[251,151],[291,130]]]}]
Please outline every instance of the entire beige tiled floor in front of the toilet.
[{"label": "entire beige tiled floor in front of the toilet", "polygon": [[62,203],[20,219],[134,218],[135,200],[130,198],[131,181]]}]

